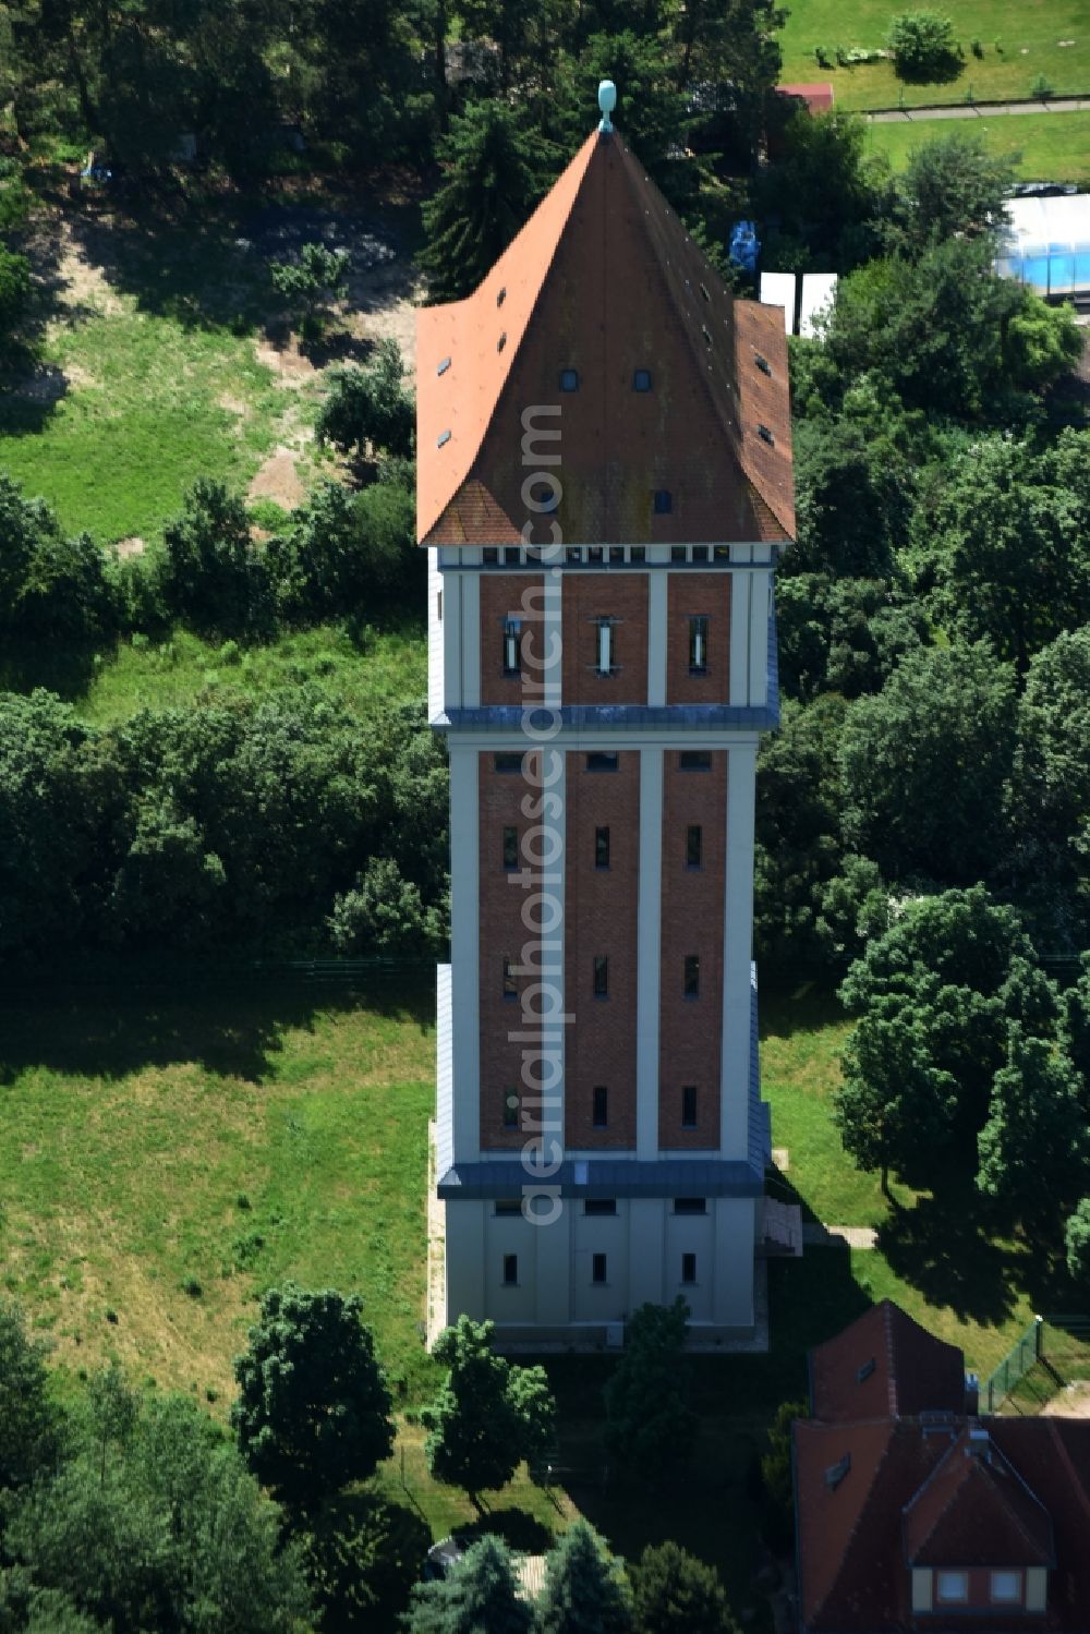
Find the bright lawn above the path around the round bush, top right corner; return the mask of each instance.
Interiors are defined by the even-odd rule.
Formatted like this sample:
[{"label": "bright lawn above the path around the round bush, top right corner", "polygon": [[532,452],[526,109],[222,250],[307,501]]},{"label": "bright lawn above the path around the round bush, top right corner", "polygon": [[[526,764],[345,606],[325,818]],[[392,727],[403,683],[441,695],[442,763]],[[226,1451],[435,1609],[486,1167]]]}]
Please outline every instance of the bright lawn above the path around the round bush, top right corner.
[{"label": "bright lawn above the path around the round bush, top right corner", "polygon": [[[910,7],[892,0],[853,0],[851,7],[840,0],[793,0],[781,34],[781,80],[830,80],[838,108],[896,108],[902,92],[909,106],[958,103],[966,100],[969,87],[977,101],[1023,100],[1039,74],[1059,96],[1090,92],[1083,0],[951,0],[941,11],[953,18],[966,60],[958,78],[946,85],[902,85],[889,62],[853,69],[817,65],[815,46],[824,46],[832,60],[837,46],[884,47],[889,23],[900,10]],[[974,39],[982,57],[972,54]],[[1062,39],[1074,44],[1061,46]],[[1070,139],[1075,141],[1074,131]]]}]

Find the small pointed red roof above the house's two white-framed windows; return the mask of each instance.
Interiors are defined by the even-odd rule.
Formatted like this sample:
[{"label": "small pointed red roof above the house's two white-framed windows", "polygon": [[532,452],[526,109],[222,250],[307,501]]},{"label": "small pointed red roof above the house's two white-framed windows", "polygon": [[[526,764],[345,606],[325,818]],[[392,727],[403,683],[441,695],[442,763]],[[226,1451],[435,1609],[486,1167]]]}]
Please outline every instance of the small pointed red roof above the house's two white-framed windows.
[{"label": "small pointed red roof above the house's two white-framed windows", "polygon": [[1052,1565],[1052,1523],[987,1430],[961,1431],[904,1515],[910,1565]]}]

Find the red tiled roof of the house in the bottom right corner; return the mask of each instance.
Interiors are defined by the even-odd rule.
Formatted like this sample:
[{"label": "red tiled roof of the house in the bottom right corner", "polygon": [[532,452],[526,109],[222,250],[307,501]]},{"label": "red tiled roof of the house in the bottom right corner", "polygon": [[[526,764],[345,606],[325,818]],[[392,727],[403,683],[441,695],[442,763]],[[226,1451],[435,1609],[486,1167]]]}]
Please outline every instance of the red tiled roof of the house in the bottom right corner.
[{"label": "red tiled roof of the house in the bottom right corner", "polygon": [[[1026,1618],[992,1609],[987,1634],[1026,1627],[1090,1634],[1090,1420],[969,1420],[954,1412],[936,1420],[925,1409],[907,1412],[912,1376],[920,1363],[927,1369],[935,1353],[917,1337],[930,1335],[896,1306],[891,1312],[887,1317],[876,1307],[853,1324],[840,1335],[851,1342],[847,1348],[838,1351],[840,1340],[833,1340],[812,1353],[814,1361],[838,1363],[825,1405],[840,1412],[843,1366],[851,1361],[855,1381],[858,1340],[894,1335],[873,1417],[851,1422],[829,1415],[794,1425],[804,1634],[905,1634],[923,1624],[933,1634],[964,1629],[966,1614],[958,1609],[914,1618],[914,1564],[982,1570],[1044,1565],[1046,1613]],[[949,1350],[940,1345],[940,1351]],[[879,1369],[881,1363],[864,1384],[879,1377]],[[953,1371],[946,1382],[953,1387]],[[928,1405],[931,1394],[931,1387],[923,1392]],[[987,1441],[977,1440],[976,1454],[966,1456],[974,1428],[985,1430]]]}]

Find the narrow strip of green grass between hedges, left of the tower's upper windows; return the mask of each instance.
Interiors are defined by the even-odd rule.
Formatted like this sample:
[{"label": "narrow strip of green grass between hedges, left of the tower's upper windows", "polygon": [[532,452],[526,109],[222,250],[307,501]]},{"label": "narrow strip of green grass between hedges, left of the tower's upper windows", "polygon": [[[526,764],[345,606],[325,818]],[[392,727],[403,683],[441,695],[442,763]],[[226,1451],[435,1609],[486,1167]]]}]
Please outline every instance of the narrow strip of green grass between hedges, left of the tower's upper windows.
[{"label": "narrow strip of green grass between hedges, left of the tower's upper windows", "polygon": [[368,631],[353,641],[345,629],[330,624],[242,652],[234,644],[221,649],[188,631],[175,631],[168,641],[147,647],[123,642],[93,667],[90,683],[80,672],[70,691],[78,712],[96,725],[124,721],[137,709],[186,706],[199,694],[261,696],[276,686],[310,680],[320,680],[330,694],[366,712],[423,698],[427,662],[427,649],[415,631]]}]

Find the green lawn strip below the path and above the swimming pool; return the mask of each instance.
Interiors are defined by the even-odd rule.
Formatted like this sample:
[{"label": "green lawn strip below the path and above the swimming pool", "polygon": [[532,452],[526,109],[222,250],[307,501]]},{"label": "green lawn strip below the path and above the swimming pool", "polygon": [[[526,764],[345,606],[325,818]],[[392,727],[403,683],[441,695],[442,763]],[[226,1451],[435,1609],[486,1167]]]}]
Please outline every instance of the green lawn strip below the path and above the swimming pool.
[{"label": "green lawn strip below the path and above the swimming pool", "polygon": [[1020,113],[982,119],[925,121],[922,124],[868,124],[871,154],[886,154],[900,170],[914,147],[928,137],[966,131],[979,136],[989,152],[1018,157],[1018,175],[1026,181],[1075,181],[1090,186],[1090,111]]}]

